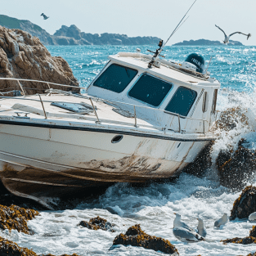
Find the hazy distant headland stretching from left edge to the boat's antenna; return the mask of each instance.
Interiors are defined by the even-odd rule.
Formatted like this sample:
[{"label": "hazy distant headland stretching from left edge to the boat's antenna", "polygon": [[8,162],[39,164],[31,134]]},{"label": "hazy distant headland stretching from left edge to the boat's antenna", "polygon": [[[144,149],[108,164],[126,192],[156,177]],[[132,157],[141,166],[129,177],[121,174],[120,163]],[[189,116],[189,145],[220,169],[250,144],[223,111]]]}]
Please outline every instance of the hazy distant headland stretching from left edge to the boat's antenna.
[{"label": "hazy distant headland stretching from left edge to the boat's antenna", "polygon": [[61,29],[51,35],[29,20],[18,20],[5,15],[0,15],[0,25],[7,29],[22,29],[39,38],[45,45],[145,45],[158,44],[160,40],[156,37],[129,38],[126,34],[89,34],[81,32],[76,25],[62,25]]}]

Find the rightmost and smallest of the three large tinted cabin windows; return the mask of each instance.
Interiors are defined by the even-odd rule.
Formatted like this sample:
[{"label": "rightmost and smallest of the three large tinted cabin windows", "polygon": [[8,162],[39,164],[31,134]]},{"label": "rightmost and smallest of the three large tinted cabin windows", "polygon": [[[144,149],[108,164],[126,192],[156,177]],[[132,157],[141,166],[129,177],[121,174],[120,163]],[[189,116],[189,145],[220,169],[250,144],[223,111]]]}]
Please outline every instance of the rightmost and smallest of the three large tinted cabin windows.
[{"label": "rightmost and smallest of the three large tinted cabin windows", "polygon": [[194,104],[196,96],[197,92],[189,88],[180,87],[174,93],[173,98],[168,103],[165,110],[186,116],[189,110],[191,110],[191,106]]}]

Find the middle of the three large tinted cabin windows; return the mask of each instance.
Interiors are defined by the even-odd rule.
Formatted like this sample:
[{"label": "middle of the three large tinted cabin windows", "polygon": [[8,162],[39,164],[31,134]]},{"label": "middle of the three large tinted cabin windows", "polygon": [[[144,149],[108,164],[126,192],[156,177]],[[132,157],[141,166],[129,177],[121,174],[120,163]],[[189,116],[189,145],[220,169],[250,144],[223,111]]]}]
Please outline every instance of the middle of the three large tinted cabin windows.
[{"label": "middle of the three large tinted cabin windows", "polygon": [[142,74],[128,95],[152,106],[159,106],[172,86],[171,83],[166,83],[148,74]]}]

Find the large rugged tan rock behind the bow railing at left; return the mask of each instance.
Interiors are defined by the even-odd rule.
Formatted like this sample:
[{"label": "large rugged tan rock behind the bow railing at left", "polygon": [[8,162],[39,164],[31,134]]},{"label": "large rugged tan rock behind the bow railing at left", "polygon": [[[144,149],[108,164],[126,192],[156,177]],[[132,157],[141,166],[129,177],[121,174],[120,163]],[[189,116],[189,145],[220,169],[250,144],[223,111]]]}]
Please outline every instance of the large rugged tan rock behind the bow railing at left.
[{"label": "large rugged tan rock behind the bow railing at left", "polygon": [[[0,77],[15,79],[34,79],[50,83],[79,86],[68,63],[60,56],[51,56],[38,38],[20,29],[7,29],[0,25]],[[25,94],[42,93],[46,83],[21,82]],[[64,88],[51,85],[51,88],[64,91],[77,88]],[[33,88],[33,89],[26,89]],[[20,90],[16,81],[1,82],[1,92]]]}]

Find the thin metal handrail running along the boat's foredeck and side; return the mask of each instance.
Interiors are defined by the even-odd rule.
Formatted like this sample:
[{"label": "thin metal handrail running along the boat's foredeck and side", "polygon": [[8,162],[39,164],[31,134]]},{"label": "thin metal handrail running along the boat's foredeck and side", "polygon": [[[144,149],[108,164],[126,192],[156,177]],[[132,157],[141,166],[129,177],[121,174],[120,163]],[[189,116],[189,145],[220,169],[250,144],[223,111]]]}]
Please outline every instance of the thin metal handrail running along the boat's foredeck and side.
[{"label": "thin metal handrail running along the boat's foredeck and side", "polygon": [[[12,79],[12,78],[0,78],[0,80],[14,80],[14,81],[17,81],[19,83],[19,86],[20,86],[20,89],[22,90],[24,96],[25,96],[25,92],[20,84],[20,81],[25,81],[25,82],[36,82],[36,83],[47,83],[47,88],[48,89],[52,89],[50,88],[50,85],[49,84],[52,84],[52,85],[57,85],[57,86],[62,86],[62,87],[69,87],[69,88],[79,88],[79,89],[87,89],[87,88],[83,88],[83,87],[78,87],[78,86],[73,86],[73,85],[65,85],[65,84],[61,84],[61,83],[51,83],[51,82],[46,82],[46,81],[40,81],[40,80],[32,80],[32,79]],[[84,96],[82,96],[84,97]],[[16,97],[2,97],[0,96],[0,98],[16,98]],[[127,102],[120,102],[120,101],[109,101],[109,100],[104,100],[104,99],[101,99],[101,98],[98,98],[98,97],[84,97],[86,99],[89,99],[91,101],[91,104],[92,104],[92,108],[94,110],[94,114],[96,115],[97,117],[97,124],[101,124],[101,122],[99,121],[99,118],[97,116],[97,110],[96,108],[93,106],[93,103],[92,103],[92,99],[94,100],[97,100],[97,101],[104,101],[104,102],[110,102],[110,103],[114,103],[114,104],[122,104],[122,105],[127,105],[127,106],[133,106],[134,108],[134,118],[135,118],[135,127],[137,127],[137,115],[136,115],[136,110],[135,110],[135,107],[140,107],[140,108],[144,108],[144,109],[150,109],[150,110],[158,110],[158,111],[161,111],[161,112],[164,112],[164,113],[167,113],[169,115],[174,115],[174,116],[177,116],[177,119],[178,119],[178,132],[182,132],[182,128],[181,128],[181,115],[178,115],[176,113],[173,113],[173,112],[169,112],[168,110],[160,110],[160,109],[156,109],[156,108],[153,108],[153,107],[150,107],[150,106],[139,106],[139,105],[134,105],[134,104],[130,104],[130,103],[127,103]],[[29,99],[29,98],[20,98],[20,99],[23,99],[23,100],[29,100],[29,101],[38,101],[38,100],[35,100],[35,99]],[[43,101],[42,99],[40,99],[41,101],[41,104],[43,104],[43,102],[52,102],[52,101]],[[72,103],[72,102],[70,102]],[[44,110],[44,108],[43,108]],[[44,110],[44,113],[45,113],[45,110]],[[208,120],[204,120],[204,119],[195,119],[195,118],[191,118],[191,117],[187,117],[187,116],[182,116],[183,119],[191,119],[191,120],[197,120],[197,121],[203,121],[203,133],[205,133],[204,131],[204,122],[207,122],[209,123]],[[145,125],[143,125],[145,126]]]}]

